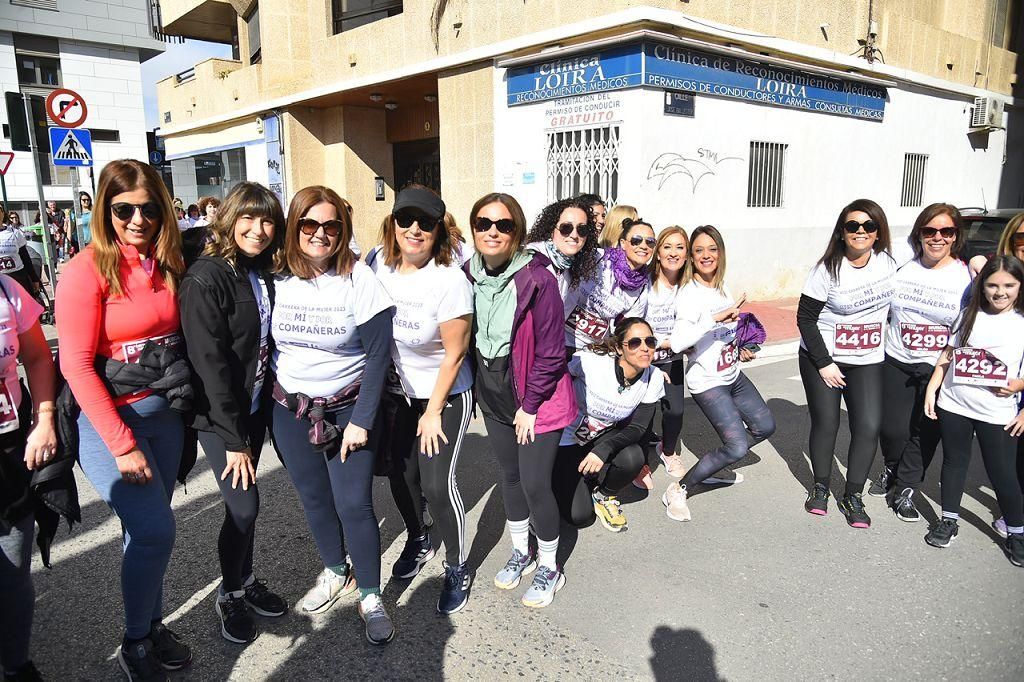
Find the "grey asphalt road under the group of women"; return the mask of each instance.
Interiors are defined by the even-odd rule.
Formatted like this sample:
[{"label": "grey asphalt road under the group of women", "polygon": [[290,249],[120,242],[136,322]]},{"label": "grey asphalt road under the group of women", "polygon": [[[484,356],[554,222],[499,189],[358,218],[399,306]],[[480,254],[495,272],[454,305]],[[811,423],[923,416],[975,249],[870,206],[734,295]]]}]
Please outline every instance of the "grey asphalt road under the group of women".
[{"label": "grey asphalt road under the group of women", "polygon": [[[1024,569],[1013,566],[989,528],[994,495],[976,455],[961,535],[946,550],[925,544],[927,523],[903,523],[868,499],[873,525],[854,530],[833,506],[803,511],[811,480],[808,421],[790,355],[748,369],[768,398],[777,433],[739,463],[746,480],[691,498],[693,521],[665,516],[656,489],[627,496],[629,531],[563,527],[567,583],[547,609],[522,607],[525,585],[509,593],[492,578],[509,553],[497,464],[479,420],[461,457],[460,488],[478,578],[467,608],[434,609],[438,556],[413,581],[389,581],[384,599],[398,630],[386,647],[362,636],[354,597],[328,613],[261,619],[249,646],[224,641],[214,613],[222,505],[201,458],[187,492],[178,488],[178,530],[167,574],[167,622],[193,647],[176,680],[325,679],[1024,679]],[[845,426],[844,426],[845,429]],[[683,441],[702,453],[718,439],[687,401]],[[845,452],[848,436],[838,446]],[[692,456],[687,454],[692,461]],[[842,491],[845,455],[833,476]],[[877,469],[878,467],[876,467]],[[939,511],[938,461],[921,504]],[[262,511],[257,572],[290,602],[322,566],[287,473],[267,446],[260,467]],[[117,519],[80,480],[84,523],[61,530],[53,569],[34,566],[38,592],[33,651],[44,676],[119,679],[122,634]],[[378,479],[384,573],[404,528]]]}]

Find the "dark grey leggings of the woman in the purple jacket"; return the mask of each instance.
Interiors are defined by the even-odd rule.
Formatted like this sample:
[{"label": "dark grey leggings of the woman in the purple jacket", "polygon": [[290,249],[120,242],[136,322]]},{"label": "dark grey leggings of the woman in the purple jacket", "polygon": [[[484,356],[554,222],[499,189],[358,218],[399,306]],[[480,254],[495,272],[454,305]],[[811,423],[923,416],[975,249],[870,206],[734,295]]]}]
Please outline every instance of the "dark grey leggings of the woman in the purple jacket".
[{"label": "dark grey leggings of the woman in the purple jacket", "polygon": [[561,429],[538,433],[534,442],[520,445],[515,428],[483,417],[487,438],[502,468],[502,498],[510,521],[529,519],[537,539],[558,539],[558,504],[551,488],[551,472],[558,454]]}]

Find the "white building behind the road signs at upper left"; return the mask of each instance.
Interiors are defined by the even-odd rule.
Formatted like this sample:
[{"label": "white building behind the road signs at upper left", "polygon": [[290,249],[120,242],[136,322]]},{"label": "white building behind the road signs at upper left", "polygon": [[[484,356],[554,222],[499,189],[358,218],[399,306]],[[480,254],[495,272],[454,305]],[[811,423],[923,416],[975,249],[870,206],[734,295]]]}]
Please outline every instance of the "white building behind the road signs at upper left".
[{"label": "white building behind the road signs at upper left", "polygon": [[[72,205],[72,173],[93,194],[103,165],[113,159],[146,159],[145,115],[139,65],[161,53],[147,0],[0,0],[0,89],[34,96],[33,126],[40,152],[17,152],[6,175],[8,210],[23,222],[38,210],[36,174],[43,194],[61,208]],[[55,88],[82,95],[92,132],[94,165],[54,167],[43,99]],[[3,137],[10,151],[8,113],[0,104]]]}]

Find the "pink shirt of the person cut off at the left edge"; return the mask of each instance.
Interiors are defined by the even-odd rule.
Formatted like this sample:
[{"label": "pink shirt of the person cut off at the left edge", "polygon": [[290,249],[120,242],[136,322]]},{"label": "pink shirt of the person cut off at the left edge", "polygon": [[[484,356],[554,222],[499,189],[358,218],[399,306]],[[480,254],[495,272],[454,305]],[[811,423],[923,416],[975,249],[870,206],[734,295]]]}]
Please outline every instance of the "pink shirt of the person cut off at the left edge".
[{"label": "pink shirt of the person cut off at the left edge", "polygon": [[0,274],[0,433],[17,428],[17,408],[22,404],[22,384],[17,379],[17,354],[25,334],[43,313],[36,299],[22,285]]}]

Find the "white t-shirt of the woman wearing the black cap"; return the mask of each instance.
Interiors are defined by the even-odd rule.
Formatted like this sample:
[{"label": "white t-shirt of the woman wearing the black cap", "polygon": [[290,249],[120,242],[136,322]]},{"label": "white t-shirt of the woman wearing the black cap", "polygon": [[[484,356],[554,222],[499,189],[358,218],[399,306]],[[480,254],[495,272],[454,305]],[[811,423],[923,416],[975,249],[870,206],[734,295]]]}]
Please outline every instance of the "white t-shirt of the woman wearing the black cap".
[{"label": "white t-shirt of the woman wearing the black cap", "polygon": [[[371,267],[395,305],[391,358],[401,386],[388,390],[429,399],[444,359],[440,324],[472,314],[473,287],[461,268],[437,265],[432,258],[415,272],[397,272],[379,257]],[[462,393],[472,385],[473,372],[464,361],[450,392]]]}]

